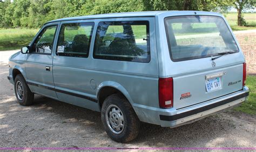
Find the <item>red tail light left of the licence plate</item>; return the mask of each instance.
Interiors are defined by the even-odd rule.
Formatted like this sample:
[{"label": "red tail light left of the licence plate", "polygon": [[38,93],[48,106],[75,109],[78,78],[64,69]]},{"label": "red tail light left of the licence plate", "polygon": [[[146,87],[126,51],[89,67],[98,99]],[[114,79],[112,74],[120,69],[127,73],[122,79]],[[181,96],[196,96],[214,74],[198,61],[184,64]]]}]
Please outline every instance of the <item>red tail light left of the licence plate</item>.
[{"label": "red tail light left of the licence plate", "polygon": [[173,107],[173,78],[159,78],[158,98],[160,108]]}]

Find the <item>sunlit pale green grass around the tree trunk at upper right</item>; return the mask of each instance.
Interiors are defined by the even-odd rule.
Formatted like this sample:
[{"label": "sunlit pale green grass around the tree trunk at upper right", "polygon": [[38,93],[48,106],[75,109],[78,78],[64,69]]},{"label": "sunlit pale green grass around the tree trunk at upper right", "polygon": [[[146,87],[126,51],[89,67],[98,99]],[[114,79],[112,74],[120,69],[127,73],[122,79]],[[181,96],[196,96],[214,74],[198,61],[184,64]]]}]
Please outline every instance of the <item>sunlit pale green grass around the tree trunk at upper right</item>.
[{"label": "sunlit pale green grass around the tree trunk at upper right", "polygon": [[237,25],[237,13],[227,13],[225,17],[230,24],[233,31],[240,30],[255,30],[256,29],[256,13],[242,13],[245,21],[248,23],[247,26]]}]

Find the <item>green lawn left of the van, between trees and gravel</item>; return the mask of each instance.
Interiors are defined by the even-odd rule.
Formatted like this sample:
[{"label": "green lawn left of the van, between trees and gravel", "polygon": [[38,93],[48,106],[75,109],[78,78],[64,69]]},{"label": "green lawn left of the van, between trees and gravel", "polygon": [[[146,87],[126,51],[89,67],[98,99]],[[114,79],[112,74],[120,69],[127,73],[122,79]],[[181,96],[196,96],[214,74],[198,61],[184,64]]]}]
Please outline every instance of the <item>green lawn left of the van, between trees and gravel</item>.
[{"label": "green lawn left of the van, between trees and gravel", "polygon": [[0,28],[0,50],[20,49],[27,46],[39,29]]}]

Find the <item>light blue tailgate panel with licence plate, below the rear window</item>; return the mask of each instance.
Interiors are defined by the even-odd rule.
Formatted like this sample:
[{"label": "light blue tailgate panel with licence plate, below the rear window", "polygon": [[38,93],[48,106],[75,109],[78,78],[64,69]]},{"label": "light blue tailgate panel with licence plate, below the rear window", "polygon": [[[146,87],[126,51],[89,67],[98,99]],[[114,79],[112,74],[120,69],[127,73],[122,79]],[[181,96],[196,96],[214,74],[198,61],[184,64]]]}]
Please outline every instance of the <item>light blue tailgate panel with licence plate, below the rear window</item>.
[{"label": "light blue tailgate panel with licence plate, below the rear window", "polygon": [[211,68],[208,63],[208,66],[211,70],[173,77],[175,108],[206,102],[242,89],[242,64]]}]

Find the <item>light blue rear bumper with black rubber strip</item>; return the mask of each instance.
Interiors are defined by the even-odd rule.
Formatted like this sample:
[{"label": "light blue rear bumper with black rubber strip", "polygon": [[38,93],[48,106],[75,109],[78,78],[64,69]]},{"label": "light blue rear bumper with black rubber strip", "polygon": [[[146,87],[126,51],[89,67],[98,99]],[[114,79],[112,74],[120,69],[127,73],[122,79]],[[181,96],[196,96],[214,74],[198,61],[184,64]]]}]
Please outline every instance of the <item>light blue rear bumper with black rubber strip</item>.
[{"label": "light blue rear bumper with black rubber strip", "polygon": [[[204,103],[181,108],[160,109],[140,107],[138,117],[144,122],[157,124],[162,127],[178,127],[185,124],[190,124],[194,121],[203,119],[208,115],[220,112],[226,108],[237,106],[244,102],[249,95],[249,88],[244,86],[243,90],[231,93],[229,95],[215,98]],[[136,108],[135,108],[136,109]],[[148,115],[146,115],[147,113]],[[142,114],[142,115],[140,115]],[[153,120],[157,119],[157,120]]]}]

